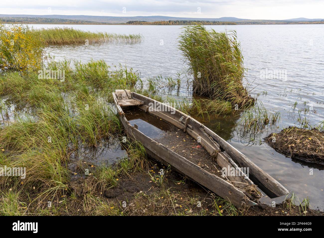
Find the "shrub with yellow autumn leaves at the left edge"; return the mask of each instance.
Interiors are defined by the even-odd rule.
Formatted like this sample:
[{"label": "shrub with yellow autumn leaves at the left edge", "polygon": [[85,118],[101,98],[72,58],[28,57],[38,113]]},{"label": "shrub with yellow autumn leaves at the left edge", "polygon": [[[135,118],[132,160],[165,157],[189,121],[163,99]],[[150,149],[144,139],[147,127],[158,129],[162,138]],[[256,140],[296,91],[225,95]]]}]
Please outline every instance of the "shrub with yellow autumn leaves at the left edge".
[{"label": "shrub with yellow autumn leaves at the left edge", "polygon": [[27,25],[0,24],[0,69],[34,72],[42,67],[43,43]]}]

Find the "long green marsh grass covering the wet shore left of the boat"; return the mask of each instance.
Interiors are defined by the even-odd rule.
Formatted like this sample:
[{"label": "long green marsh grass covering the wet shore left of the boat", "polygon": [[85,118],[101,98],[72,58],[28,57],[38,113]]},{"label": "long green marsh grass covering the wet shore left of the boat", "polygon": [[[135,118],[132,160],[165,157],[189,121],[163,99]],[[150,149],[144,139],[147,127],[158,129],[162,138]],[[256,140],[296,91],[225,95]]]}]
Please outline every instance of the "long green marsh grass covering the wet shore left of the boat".
[{"label": "long green marsh grass covering the wet shore left of the boat", "polygon": [[[0,162],[8,167],[26,168],[25,179],[0,177],[0,188],[36,195],[30,201],[41,209],[37,211],[41,214],[57,214],[57,210],[41,208],[41,204],[69,190],[71,171],[67,164],[71,153],[82,148],[95,149],[106,139],[121,137],[122,128],[111,92],[128,88],[151,96],[151,92],[136,87],[141,85],[141,80],[133,69],[121,65],[111,69],[104,61],[81,63],[49,59],[46,69],[64,70],[64,81],[42,79],[35,73],[0,74],[3,122]],[[17,106],[14,118],[8,117],[8,103]],[[94,192],[114,187],[118,176],[131,176],[147,166],[143,145],[129,141],[123,144],[127,148],[126,158],[113,167],[98,166],[93,172],[90,185]],[[99,205],[98,199],[84,199],[86,214],[110,214],[106,213],[104,204],[90,211],[89,204]],[[12,203],[6,204],[5,210],[9,210]]]}]

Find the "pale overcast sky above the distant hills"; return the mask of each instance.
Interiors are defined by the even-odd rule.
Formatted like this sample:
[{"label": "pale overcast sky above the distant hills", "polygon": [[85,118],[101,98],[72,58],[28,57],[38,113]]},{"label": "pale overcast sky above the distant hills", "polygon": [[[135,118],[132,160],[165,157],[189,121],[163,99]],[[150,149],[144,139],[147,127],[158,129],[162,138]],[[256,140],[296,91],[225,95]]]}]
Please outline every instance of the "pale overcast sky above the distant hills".
[{"label": "pale overcast sky above the distant hills", "polygon": [[163,15],[282,20],[324,18],[323,10],[324,0],[1,0],[0,3],[0,14],[35,15]]}]

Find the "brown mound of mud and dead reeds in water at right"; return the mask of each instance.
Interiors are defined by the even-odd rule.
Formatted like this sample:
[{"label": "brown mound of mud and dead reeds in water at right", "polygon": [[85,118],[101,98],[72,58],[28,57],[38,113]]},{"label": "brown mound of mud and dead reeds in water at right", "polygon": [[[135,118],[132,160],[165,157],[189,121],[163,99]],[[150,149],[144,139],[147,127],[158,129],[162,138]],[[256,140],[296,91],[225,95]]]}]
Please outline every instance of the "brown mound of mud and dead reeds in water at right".
[{"label": "brown mound of mud and dead reeds in water at right", "polygon": [[264,140],[277,152],[292,159],[324,165],[324,132],[289,127]]}]

